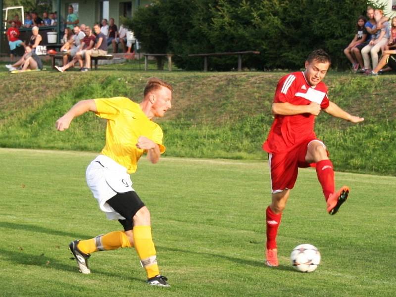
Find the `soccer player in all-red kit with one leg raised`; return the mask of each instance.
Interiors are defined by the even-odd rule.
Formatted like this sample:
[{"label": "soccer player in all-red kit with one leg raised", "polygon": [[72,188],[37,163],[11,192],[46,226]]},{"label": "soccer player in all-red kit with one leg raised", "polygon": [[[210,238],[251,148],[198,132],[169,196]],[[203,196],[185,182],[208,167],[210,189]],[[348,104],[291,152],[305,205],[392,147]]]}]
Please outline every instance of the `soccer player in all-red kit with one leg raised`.
[{"label": "soccer player in all-red kit with one leg raised", "polygon": [[326,146],[316,138],[315,117],[321,110],[352,123],[362,117],[350,115],[327,96],[322,82],[331,64],[322,49],[312,51],[305,61],[305,71],[282,77],[276,88],[272,112],[274,122],[263,149],[268,152],[271,170],[272,202],[266,210],[266,265],[278,266],[276,235],[290,190],[297,179],[298,167],[316,164],[316,173],[327,202],[327,211],[335,214],[347,199],[349,189],[335,191],[333,164]]}]

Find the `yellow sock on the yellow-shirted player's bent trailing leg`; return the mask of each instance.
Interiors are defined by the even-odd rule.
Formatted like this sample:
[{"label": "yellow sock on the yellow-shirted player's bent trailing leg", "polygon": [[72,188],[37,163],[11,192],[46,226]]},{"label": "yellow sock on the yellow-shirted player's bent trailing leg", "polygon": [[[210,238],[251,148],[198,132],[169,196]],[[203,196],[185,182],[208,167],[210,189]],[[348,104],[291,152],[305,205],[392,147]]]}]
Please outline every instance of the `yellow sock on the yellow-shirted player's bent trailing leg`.
[{"label": "yellow sock on the yellow-shirted player's bent trailing leg", "polygon": [[111,250],[119,247],[131,247],[125,232],[113,231],[95,238],[82,240],[77,246],[84,253],[92,253],[97,250]]}]

